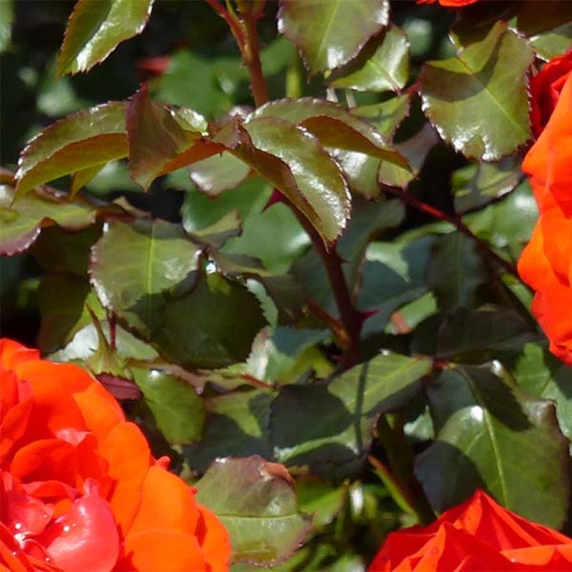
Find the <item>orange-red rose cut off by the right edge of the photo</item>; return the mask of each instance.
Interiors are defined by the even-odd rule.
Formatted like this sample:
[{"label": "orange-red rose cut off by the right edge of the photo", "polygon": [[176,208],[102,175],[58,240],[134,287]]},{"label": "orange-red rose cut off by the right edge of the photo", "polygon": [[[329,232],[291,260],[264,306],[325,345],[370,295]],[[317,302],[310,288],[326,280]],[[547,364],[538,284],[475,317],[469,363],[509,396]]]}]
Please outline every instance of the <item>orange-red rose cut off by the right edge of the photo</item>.
[{"label": "orange-red rose cut off by the right edge of the photo", "polygon": [[518,262],[536,290],[532,312],[550,351],[572,365],[572,50],[550,61],[531,82],[531,119],[539,138],[522,170],[540,218]]}]

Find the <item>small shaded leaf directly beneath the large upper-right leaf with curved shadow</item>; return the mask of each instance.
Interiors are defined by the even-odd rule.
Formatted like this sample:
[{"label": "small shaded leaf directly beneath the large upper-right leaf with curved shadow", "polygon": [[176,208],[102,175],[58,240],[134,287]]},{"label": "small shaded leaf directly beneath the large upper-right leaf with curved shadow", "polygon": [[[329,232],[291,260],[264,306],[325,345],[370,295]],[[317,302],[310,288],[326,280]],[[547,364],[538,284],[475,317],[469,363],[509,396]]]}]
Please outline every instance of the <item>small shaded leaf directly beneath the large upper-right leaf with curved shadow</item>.
[{"label": "small shaded leaf directly beneath the large upper-right leaf with curved shadow", "polygon": [[522,180],[521,158],[505,157],[499,163],[467,165],[451,175],[451,190],[455,195],[455,210],[465,213],[503,197]]}]

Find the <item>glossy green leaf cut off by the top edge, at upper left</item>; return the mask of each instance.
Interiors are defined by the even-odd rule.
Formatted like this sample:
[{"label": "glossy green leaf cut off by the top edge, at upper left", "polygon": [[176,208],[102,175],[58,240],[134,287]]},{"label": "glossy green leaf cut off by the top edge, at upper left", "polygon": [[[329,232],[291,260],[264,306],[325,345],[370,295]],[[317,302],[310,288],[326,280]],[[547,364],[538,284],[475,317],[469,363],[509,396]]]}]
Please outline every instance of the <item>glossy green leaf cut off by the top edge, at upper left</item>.
[{"label": "glossy green leaf cut off by the top edge, at upper left", "polygon": [[118,44],[141,33],[153,0],[78,0],[68,20],[57,73],[89,70]]}]

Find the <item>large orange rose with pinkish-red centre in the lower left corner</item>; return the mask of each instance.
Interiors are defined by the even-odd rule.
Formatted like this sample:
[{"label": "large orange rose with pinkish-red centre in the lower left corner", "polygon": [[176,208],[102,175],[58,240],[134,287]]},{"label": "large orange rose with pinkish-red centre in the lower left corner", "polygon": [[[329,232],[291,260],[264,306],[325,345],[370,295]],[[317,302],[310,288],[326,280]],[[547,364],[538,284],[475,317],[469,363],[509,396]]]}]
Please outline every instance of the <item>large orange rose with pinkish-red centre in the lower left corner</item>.
[{"label": "large orange rose with pinkish-red centre in the lower left corner", "polygon": [[0,570],[223,571],[228,534],[81,368],[0,340]]}]

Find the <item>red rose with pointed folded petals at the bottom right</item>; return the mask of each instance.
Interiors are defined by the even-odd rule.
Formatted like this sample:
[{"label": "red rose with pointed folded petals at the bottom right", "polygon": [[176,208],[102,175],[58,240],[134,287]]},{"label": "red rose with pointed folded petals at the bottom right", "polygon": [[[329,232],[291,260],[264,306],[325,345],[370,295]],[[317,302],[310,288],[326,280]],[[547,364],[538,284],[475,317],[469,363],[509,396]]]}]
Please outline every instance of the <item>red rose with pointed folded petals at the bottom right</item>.
[{"label": "red rose with pointed folded petals at the bottom right", "polygon": [[572,569],[572,539],[529,522],[482,490],[428,527],[392,532],[370,572]]}]

